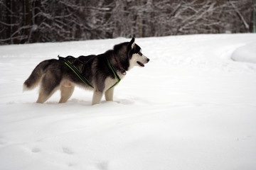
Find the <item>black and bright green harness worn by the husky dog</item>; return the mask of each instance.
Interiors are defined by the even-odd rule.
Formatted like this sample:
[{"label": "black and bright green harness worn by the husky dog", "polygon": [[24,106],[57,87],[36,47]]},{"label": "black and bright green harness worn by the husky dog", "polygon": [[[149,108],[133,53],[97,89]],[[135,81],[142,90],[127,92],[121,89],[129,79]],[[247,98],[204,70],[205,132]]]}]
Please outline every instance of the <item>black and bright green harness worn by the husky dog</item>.
[{"label": "black and bright green harness worn by the husky dog", "polygon": [[[87,86],[90,86],[90,87],[92,87],[92,89],[94,89],[94,86],[92,86],[92,84],[90,84],[90,82],[85,78],[85,76],[84,76],[84,71],[85,71],[85,64],[87,64],[87,62],[90,62],[90,60],[92,60],[92,59],[90,59],[90,60],[88,60],[88,61],[86,61],[86,62],[82,62],[81,60],[79,60],[78,58],[75,58],[75,57],[73,57],[73,56],[68,56],[68,57],[60,57],[59,55],[58,55],[58,58],[59,58],[59,60],[63,60],[64,61],[64,63],[78,76],[78,78],[83,82],[83,83],[85,83]],[[70,62],[70,60],[68,60],[68,59],[72,59],[72,60],[74,60],[73,62]],[[106,59],[107,59],[107,57],[106,57]],[[115,59],[116,60],[116,59]],[[83,66],[82,66],[82,73],[80,73],[80,71],[79,71],[79,69],[77,68],[77,67],[75,67],[75,61],[78,61],[78,62],[80,62],[80,63],[82,63],[83,64]],[[116,60],[117,61],[117,60]],[[117,72],[116,72],[116,70],[114,69],[114,67],[112,66],[112,64],[110,64],[110,61],[107,59],[107,66],[111,69],[111,71],[113,72],[113,74],[114,74],[114,77],[117,79],[117,82],[113,85],[113,86],[111,86],[109,89],[107,89],[107,90],[110,90],[110,89],[112,89],[114,86],[116,86],[120,81],[121,81],[121,79],[120,79],[120,77],[118,76],[118,74],[117,74]]]}]

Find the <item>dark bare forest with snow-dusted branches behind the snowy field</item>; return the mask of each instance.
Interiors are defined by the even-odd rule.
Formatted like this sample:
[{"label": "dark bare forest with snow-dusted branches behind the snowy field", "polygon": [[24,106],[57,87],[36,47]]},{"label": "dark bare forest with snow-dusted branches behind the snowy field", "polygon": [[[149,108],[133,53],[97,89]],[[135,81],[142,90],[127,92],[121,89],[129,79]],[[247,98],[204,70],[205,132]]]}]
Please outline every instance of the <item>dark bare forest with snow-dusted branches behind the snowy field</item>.
[{"label": "dark bare forest with snow-dusted branches behind the snowy field", "polygon": [[0,45],[250,33],[255,0],[0,0]]}]

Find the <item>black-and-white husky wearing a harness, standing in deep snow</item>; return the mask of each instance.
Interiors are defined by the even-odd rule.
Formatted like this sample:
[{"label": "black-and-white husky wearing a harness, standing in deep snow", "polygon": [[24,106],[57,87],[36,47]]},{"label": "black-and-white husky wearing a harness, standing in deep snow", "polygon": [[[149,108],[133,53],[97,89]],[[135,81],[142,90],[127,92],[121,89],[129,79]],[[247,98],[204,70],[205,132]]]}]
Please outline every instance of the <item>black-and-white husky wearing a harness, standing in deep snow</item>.
[{"label": "black-and-white husky wearing a harness, standing in deep snow", "polygon": [[[114,45],[101,55],[65,57],[63,60],[45,60],[39,63],[23,84],[23,91],[41,84],[37,103],[44,103],[60,89],[59,103],[65,103],[73,94],[75,85],[94,91],[92,105],[99,104],[103,94],[113,101],[114,85],[134,66],[144,67],[149,58],[132,38],[130,42]],[[61,57],[60,57],[61,58]],[[75,72],[76,70],[76,72]],[[78,76],[78,74],[82,76]],[[87,84],[83,79],[87,80]]]}]

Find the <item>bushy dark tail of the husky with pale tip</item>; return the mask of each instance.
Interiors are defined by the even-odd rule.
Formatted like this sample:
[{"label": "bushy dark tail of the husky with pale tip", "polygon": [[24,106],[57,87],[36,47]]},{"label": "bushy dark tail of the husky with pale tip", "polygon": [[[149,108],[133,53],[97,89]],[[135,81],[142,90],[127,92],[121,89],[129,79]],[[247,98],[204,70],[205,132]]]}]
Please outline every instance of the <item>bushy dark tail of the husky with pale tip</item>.
[{"label": "bushy dark tail of the husky with pale tip", "polygon": [[49,60],[43,61],[39,63],[31,75],[26,79],[23,84],[23,91],[28,91],[34,89],[41,81],[43,74],[46,72],[46,68],[50,64]]}]

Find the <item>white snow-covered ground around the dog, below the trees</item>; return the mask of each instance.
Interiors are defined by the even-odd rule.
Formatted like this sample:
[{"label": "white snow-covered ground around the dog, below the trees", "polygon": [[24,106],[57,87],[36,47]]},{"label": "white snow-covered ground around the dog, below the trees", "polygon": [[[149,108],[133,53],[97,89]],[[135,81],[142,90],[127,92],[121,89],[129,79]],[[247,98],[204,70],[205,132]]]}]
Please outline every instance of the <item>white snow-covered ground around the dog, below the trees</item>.
[{"label": "white snow-covered ground around the dog, below the trees", "polygon": [[0,46],[1,170],[256,169],[256,64],[238,62],[256,57],[256,34],[137,38],[151,60],[115,102],[91,106],[78,88],[63,104],[22,93],[38,62],[128,40]]}]

